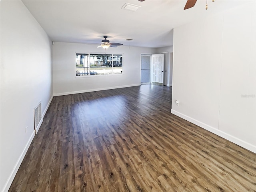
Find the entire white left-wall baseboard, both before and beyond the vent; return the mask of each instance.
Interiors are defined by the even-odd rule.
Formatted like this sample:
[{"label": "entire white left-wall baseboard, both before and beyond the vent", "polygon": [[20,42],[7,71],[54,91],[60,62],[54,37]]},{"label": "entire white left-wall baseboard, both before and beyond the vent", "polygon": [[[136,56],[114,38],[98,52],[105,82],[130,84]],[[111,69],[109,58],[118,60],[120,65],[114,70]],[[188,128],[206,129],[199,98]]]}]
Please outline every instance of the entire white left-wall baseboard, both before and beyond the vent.
[{"label": "entire white left-wall baseboard, both before and beyond the vent", "polygon": [[[38,124],[38,126],[36,128],[36,133],[38,132],[38,130],[39,130],[39,128],[40,128],[40,126],[41,126],[41,124],[43,122],[43,118],[44,118],[44,116],[46,114],[46,111],[48,110],[48,108],[50,106],[50,103],[52,102],[52,98],[53,98],[53,96],[50,98],[50,101],[48,102],[48,104],[47,104],[47,106],[46,106],[46,108],[45,108],[45,110],[44,110],[44,112],[42,114],[42,119],[41,119],[41,121],[39,122],[39,124]],[[16,164],[15,164],[15,166],[14,166],[14,168],[13,168],[13,170],[12,170],[10,176],[9,176],[9,178],[7,179],[6,184],[4,185],[2,190],[0,189],[1,192],[7,192],[9,190],[9,188],[10,188],[10,186],[12,184],[12,181],[14,180],[14,177],[15,177],[16,173],[18,172],[18,169],[20,168],[20,165],[21,165],[21,163],[22,163],[22,161],[23,161],[23,159],[24,159],[24,157],[26,155],[26,152],[28,151],[28,148],[29,148],[29,146],[30,146],[34,136],[35,136],[35,132],[33,131],[31,136],[30,136],[30,138],[29,138],[29,140],[28,140],[28,142],[27,142],[27,144],[26,144],[26,146],[25,146],[25,148],[24,148],[24,150],[22,151],[22,154],[18,158],[18,161],[16,162]]]}]

